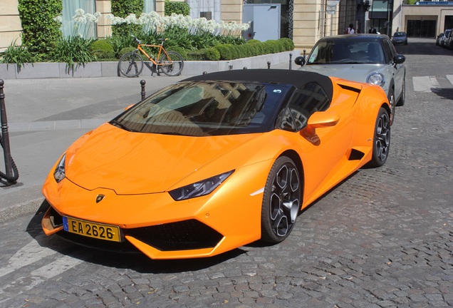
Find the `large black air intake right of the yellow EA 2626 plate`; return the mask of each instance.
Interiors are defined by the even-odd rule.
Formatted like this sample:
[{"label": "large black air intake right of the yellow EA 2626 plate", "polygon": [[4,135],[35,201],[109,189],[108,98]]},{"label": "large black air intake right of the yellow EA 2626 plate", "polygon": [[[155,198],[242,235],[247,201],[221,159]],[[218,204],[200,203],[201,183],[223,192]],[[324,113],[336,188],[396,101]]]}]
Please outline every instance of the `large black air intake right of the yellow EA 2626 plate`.
[{"label": "large black air intake right of the yellow EA 2626 plate", "polygon": [[219,232],[198,220],[126,229],[124,232],[162,251],[212,248],[223,238]]}]

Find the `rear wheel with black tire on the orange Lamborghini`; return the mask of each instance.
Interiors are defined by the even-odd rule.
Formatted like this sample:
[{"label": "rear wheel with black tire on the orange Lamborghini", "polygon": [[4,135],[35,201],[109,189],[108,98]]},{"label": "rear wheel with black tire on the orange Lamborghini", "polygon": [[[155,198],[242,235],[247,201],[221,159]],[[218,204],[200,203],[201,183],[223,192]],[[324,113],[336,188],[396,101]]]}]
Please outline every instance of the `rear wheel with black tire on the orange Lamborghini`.
[{"label": "rear wheel with black tire on the orange Lamborghini", "polygon": [[385,108],[377,113],[375,132],[373,137],[373,157],[368,165],[380,167],[385,164],[390,150],[390,118]]}]

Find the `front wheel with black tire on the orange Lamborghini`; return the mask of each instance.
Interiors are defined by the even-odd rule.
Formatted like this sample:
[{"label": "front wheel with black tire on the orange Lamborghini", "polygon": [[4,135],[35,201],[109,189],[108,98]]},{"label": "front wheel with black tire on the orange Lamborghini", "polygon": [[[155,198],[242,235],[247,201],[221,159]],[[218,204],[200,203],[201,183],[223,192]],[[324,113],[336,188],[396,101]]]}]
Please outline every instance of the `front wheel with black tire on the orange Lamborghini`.
[{"label": "front wheel with black tire on the orange Lamborghini", "polygon": [[276,244],[288,237],[301,210],[302,183],[293,160],[278,158],[269,172],[261,208],[261,241]]}]

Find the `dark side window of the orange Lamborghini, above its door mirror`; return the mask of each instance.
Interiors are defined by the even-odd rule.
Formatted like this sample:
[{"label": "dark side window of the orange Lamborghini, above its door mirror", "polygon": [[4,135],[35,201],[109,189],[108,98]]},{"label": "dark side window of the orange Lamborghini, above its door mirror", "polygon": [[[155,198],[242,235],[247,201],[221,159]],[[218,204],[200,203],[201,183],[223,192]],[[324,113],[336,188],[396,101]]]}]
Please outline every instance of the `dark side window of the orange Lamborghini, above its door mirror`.
[{"label": "dark side window of the orange Lamborghini, above its door mirror", "polygon": [[291,113],[295,129],[301,130],[307,125],[307,120],[313,113],[326,111],[329,105],[330,99],[324,89],[318,83],[312,82],[293,93],[287,109]]}]

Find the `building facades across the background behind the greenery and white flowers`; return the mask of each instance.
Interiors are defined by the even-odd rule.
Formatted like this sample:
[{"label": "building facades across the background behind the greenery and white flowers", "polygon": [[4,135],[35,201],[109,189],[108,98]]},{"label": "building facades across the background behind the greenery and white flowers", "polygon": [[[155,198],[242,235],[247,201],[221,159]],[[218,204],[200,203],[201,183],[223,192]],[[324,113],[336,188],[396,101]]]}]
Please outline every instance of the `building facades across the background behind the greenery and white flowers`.
[{"label": "building facades across the background behind the greenery and white flowers", "polygon": [[[16,44],[21,44],[22,29],[17,9],[18,1],[0,1],[0,51],[15,40]],[[145,11],[164,14],[165,0],[144,1]],[[276,36],[289,37],[296,48],[301,50],[311,49],[314,43],[324,36],[345,33],[350,24],[354,25],[357,33],[368,32],[370,27],[374,26],[381,34],[389,36],[394,31],[406,31],[409,36],[432,38],[444,29],[452,28],[453,1],[419,1],[414,5],[403,4],[403,1],[187,0],[187,4],[190,6],[192,18],[205,17],[218,22],[251,22],[254,27],[251,33],[246,35],[246,39],[254,39],[260,27],[270,26],[269,29],[278,27]],[[110,36],[111,27],[105,18],[105,14],[111,13],[110,0],[63,0],[63,10],[65,7],[68,8],[69,4],[73,7],[80,4],[80,8],[87,12],[102,13],[95,35]],[[259,24],[259,16],[263,15],[261,6],[269,6],[267,11],[278,9],[278,13],[272,15],[272,19],[264,18]],[[256,15],[247,13],[254,10],[258,12]],[[71,16],[71,12],[67,15]],[[265,40],[266,35],[259,38]]]}]

